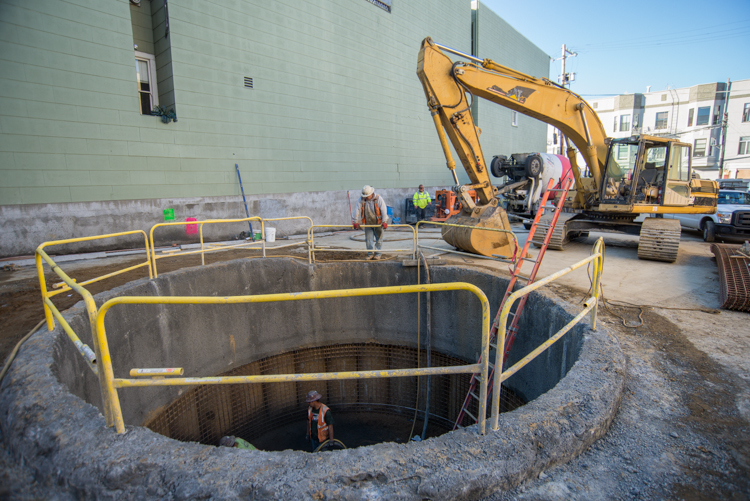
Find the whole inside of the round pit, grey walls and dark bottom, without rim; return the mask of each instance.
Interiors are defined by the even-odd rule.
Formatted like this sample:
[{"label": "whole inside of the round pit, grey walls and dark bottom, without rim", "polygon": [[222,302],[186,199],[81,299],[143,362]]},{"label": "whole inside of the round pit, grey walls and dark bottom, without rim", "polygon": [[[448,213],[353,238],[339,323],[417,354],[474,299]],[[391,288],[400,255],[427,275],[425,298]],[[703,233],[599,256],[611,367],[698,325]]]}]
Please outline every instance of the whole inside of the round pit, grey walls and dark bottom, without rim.
[{"label": "whole inside of the round pit, grey walls and dark bottom, without rim", "polygon": [[[478,286],[489,299],[492,319],[507,286],[504,278],[482,270],[435,266],[430,275],[433,283]],[[425,280],[422,269],[420,282]],[[268,258],[181,270],[114,292],[236,296],[416,283],[417,268],[397,262],[309,266]],[[479,300],[467,291],[430,295],[429,320],[424,293],[419,302],[417,294],[395,294],[234,305],[118,305],[106,317],[115,377],[129,377],[131,368],[145,367],[182,367],[186,377],[406,368],[417,366],[417,353],[419,365],[425,366],[428,329],[433,366],[475,362],[480,352]],[[532,294],[509,363],[571,317],[552,300]],[[87,332],[84,315],[71,322],[76,332]],[[510,378],[503,385],[502,407],[513,409],[554,387],[577,360],[584,328],[574,327]],[[61,345],[57,376],[74,394],[101,409],[98,383],[80,357],[68,353],[72,350]],[[469,378],[431,377],[427,437],[452,429]],[[404,442],[422,434],[426,377],[124,388],[118,393],[130,426],[209,445],[235,435],[264,450],[308,450],[305,395],[311,389],[319,391],[335,413],[336,438],[349,447]]]}]

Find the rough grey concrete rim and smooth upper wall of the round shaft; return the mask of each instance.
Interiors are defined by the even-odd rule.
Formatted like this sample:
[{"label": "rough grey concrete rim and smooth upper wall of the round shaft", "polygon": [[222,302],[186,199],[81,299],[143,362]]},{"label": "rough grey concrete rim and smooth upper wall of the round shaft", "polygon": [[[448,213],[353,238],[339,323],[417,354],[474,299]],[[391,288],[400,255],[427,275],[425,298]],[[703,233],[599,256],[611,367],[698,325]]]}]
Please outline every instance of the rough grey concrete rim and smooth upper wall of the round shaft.
[{"label": "rough grey concrete rim and smooth upper wall of the round shaft", "polygon": [[[435,282],[474,283],[495,305],[505,290],[505,280],[476,270],[436,267],[431,272]],[[393,263],[239,260],[136,281],[96,299],[101,304],[117,295],[238,295],[408,283],[416,283],[415,269]],[[432,295],[433,347],[473,359],[478,301],[468,293]],[[165,365],[207,376],[291,349],[341,343],[415,346],[416,297],[394,297],[398,300],[348,298],[263,311],[249,305],[218,312],[198,306],[113,309],[107,328],[115,376],[132,367]],[[576,309],[544,294],[530,298],[527,330],[519,333],[512,358],[557,331]],[[80,304],[66,318],[76,332],[88,331]],[[529,403],[502,414],[497,432],[482,436],[471,426],[420,443],[316,455],[250,453],[179,442],[140,426],[184,388],[120,390],[127,432],[106,428],[95,378],[56,329],[38,332],[19,353],[3,381],[0,426],[9,450],[34,465],[40,477],[56,478],[85,497],[477,499],[579,454],[605,433],[615,415],[625,360],[603,327],[576,327],[534,364],[508,381]]]}]

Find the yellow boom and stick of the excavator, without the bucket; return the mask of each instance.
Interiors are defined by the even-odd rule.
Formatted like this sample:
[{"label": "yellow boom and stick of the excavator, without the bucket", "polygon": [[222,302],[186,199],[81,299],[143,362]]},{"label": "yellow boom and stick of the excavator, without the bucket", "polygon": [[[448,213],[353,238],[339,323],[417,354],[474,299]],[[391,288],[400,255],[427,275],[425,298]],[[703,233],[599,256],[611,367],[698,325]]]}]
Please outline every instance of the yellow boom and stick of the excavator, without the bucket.
[{"label": "yellow boom and stick of the excavator, without the bucket", "polygon": [[[459,54],[473,63],[454,63],[441,49]],[[584,196],[597,191],[607,157],[607,136],[599,117],[577,94],[546,78],[535,78],[490,59],[481,60],[453,51],[430,38],[422,41],[417,75],[424,87],[448,168],[455,169],[455,162],[446,133],[473,183],[468,188],[477,190],[483,204],[492,199],[494,188],[467,93],[558,128],[583,154],[593,176],[593,182],[584,181],[576,163],[575,149],[568,148],[579,203],[583,204]],[[454,179],[458,184],[455,172]]]}]

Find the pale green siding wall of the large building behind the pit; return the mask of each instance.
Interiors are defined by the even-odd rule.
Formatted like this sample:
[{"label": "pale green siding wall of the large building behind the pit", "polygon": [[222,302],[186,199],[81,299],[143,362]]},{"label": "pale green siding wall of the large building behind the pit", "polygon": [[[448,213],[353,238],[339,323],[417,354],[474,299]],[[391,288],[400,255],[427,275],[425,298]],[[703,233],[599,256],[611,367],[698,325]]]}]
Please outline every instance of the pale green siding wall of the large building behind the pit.
[{"label": "pale green siding wall of the large building behind the pit", "polygon": [[[519,69],[546,66],[481,4],[479,14],[483,53],[511,58],[521,47]],[[191,215],[201,213],[195,204],[235,203],[235,164],[251,201],[448,185],[417,53],[426,36],[470,52],[471,20],[468,0],[394,0],[390,13],[366,0],[180,0],[168,16],[163,0],[0,0],[0,225],[13,235],[0,255],[82,236],[76,214],[107,216],[111,231],[148,228],[161,207],[185,201]],[[134,43],[157,54],[160,104],[177,122],[140,115]],[[544,150],[543,126],[491,131],[509,122],[505,111],[480,108],[488,146],[531,147],[538,136]],[[327,217],[311,209],[316,222]],[[134,211],[153,221],[118,222]],[[30,233],[34,213],[44,220]],[[70,231],[50,230],[55,214],[72,218]]]}]

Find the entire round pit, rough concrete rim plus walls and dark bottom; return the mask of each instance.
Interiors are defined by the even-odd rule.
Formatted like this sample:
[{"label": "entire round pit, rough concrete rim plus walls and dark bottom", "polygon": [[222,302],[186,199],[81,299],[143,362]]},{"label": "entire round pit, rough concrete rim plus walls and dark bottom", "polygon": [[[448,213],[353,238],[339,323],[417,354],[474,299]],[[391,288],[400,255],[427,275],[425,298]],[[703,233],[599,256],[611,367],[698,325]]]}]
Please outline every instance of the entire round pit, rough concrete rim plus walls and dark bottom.
[{"label": "entire round pit, rough concrete rim plus walls and dark bottom", "polygon": [[[434,283],[469,282],[499,304],[507,281],[467,267],[431,267]],[[424,274],[421,282],[424,283]],[[96,297],[231,296],[417,283],[397,263],[237,260],[139,280]],[[467,291],[238,305],[118,305],[107,314],[115,377],[134,367],[179,366],[187,376],[284,374],[475,362],[481,311]],[[496,314],[492,307],[492,318]],[[509,362],[558,331],[575,308],[534,293]],[[83,308],[66,312],[79,335]],[[90,344],[90,339],[84,342]],[[419,342],[418,342],[419,339]],[[583,322],[504,385],[498,431],[449,431],[469,376],[288,382],[119,390],[127,432],[106,428],[96,378],[65,333],[39,331],[0,393],[12,453],[40,480],[100,499],[478,499],[565,462],[603,435],[624,386],[613,336]],[[311,455],[304,442],[311,389],[323,394],[350,447]],[[525,405],[522,405],[524,402]],[[415,407],[417,410],[415,411]],[[414,417],[416,416],[416,420]],[[468,423],[467,423],[468,424]],[[215,447],[223,435],[259,446]],[[431,437],[431,438],[429,438]],[[382,442],[382,443],[375,443]],[[374,444],[374,445],[369,445]]]}]

